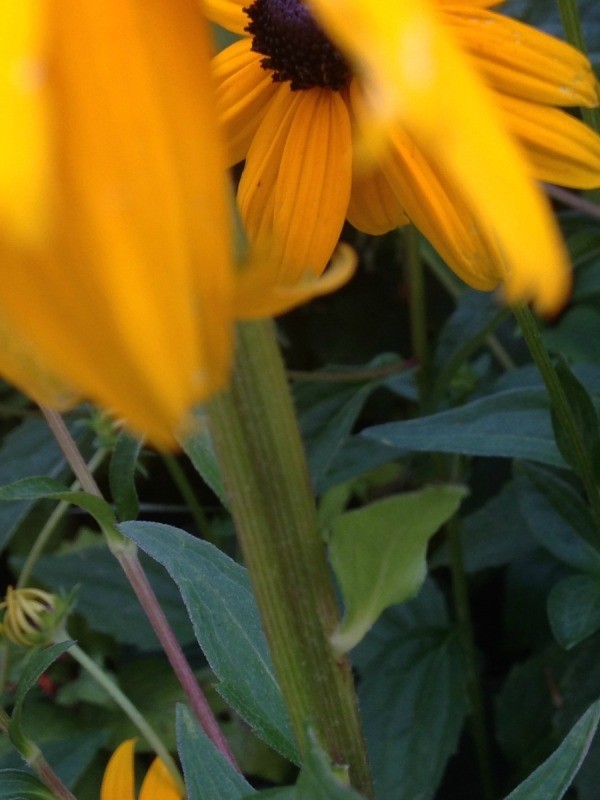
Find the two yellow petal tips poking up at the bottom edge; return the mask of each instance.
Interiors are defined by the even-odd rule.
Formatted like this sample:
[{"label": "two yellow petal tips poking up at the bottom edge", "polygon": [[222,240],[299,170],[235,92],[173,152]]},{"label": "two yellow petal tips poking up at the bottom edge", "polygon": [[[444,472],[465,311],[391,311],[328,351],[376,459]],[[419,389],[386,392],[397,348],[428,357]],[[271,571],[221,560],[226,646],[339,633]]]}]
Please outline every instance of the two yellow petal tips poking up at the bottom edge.
[{"label": "two yellow petal tips poking up at the bottom edge", "polygon": [[[112,754],[102,779],[100,800],[135,800],[134,749],[135,739],[128,739]],[[182,795],[159,758],[152,762],[146,773],[138,800],[182,800]]]}]

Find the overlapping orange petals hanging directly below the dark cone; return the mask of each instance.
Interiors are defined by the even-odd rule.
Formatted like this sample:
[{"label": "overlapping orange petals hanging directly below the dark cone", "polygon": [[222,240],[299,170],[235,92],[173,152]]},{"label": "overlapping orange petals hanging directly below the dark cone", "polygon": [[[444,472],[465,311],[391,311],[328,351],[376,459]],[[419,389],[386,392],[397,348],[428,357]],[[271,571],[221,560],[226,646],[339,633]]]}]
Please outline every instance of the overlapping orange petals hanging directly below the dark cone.
[{"label": "overlapping orange petals hanging directly below the dark cone", "polygon": [[350,117],[340,94],[281,86],[239,187],[250,241],[279,261],[280,283],[325,269],[348,208],[351,161]]}]

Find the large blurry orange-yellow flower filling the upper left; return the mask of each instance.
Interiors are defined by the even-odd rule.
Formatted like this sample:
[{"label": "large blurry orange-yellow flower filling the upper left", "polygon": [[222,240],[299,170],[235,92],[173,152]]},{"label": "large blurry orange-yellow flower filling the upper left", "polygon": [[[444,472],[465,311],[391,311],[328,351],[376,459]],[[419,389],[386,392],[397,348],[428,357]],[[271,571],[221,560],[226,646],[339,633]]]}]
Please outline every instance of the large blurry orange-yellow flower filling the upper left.
[{"label": "large blurry orange-yellow flower filling the upper left", "polygon": [[211,51],[195,0],[0,2],[0,373],[165,446],[230,365]]}]

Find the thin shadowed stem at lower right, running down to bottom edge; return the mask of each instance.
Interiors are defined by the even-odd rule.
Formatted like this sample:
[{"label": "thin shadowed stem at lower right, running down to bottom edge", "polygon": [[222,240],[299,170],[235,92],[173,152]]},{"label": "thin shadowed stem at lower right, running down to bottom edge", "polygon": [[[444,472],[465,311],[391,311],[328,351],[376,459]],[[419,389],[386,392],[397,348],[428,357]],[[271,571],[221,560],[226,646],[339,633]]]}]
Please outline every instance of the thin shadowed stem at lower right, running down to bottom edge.
[{"label": "thin shadowed stem at lower right, running down to bottom edge", "polygon": [[479,773],[485,800],[494,800],[494,783],[492,779],[491,759],[485,709],[483,704],[483,690],[479,670],[477,648],[473,634],[473,622],[469,604],[469,591],[467,576],[462,553],[462,541],[458,518],[454,517],[446,525],[448,546],[450,549],[450,568],[452,571],[452,592],[454,596],[454,609],[458,621],[460,637],[465,653],[467,665],[467,693],[471,706],[471,732]]}]

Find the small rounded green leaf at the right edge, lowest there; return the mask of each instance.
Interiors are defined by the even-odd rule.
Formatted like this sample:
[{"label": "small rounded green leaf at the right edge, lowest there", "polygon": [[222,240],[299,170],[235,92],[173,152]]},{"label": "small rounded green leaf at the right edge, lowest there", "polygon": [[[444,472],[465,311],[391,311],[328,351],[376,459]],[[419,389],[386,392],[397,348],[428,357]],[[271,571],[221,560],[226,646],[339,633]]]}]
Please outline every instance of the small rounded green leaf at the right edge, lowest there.
[{"label": "small rounded green leaf at the right edge, lowest there", "polygon": [[573,575],[557,583],[548,598],[556,641],[567,650],[600,630],[600,578]]}]

